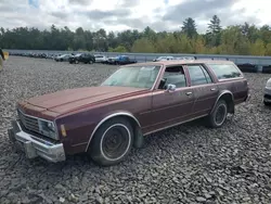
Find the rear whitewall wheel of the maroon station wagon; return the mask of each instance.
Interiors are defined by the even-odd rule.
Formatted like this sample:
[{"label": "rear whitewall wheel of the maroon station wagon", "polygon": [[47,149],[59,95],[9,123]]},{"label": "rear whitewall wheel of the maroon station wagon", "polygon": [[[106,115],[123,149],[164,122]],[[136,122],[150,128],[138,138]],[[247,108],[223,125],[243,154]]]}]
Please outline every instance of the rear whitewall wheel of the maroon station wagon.
[{"label": "rear whitewall wheel of the maroon station wagon", "polygon": [[214,112],[208,116],[208,126],[219,128],[225,122],[228,115],[228,105],[224,100],[219,100]]}]

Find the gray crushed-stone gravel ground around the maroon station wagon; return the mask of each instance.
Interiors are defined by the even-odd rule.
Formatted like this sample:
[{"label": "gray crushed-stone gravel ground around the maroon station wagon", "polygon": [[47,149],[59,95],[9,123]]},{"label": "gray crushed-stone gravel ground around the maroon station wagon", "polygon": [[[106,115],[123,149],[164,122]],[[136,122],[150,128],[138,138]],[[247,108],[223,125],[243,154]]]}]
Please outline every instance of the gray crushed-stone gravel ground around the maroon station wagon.
[{"label": "gray crushed-stone gravel ground around the maroon station wagon", "polygon": [[59,164],[26,160],[8,140],[15,102],[98,85],[116,69],[11,56],[0,73],[0,203],[271,203],[270,112],[262,88],[271,75],[245,74],[251,100],[221,129],[197,123],[147,138],[117,166],[86,155]]}]

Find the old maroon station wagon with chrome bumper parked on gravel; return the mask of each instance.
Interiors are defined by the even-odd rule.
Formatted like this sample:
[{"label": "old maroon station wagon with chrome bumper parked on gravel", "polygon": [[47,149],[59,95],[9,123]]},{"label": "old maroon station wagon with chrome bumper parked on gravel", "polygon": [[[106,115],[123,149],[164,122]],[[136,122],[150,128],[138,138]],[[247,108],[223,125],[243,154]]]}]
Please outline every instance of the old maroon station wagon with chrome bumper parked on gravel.
[{"label": "old maroon station wagon with chrome bumper parked on gravel", "polygon": [[8,132],[28,158],[61,162],[86,152],[108,166],[141,148],[146,135],[201,117],[219,128],[248,99],[247,80],[230,61],[137,63],[101,86],[20,102]]}]

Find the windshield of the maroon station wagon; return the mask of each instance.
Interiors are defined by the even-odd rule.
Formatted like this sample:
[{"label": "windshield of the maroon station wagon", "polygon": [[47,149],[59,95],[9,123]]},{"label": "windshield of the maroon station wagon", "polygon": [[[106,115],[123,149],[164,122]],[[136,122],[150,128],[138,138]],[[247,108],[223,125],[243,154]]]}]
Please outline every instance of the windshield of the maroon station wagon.
[{"label": "windshield of the maroon station wagon", "polygon": [[101,86],[134,87],[151,89],[160,66],[121,67],[111,75]]}]

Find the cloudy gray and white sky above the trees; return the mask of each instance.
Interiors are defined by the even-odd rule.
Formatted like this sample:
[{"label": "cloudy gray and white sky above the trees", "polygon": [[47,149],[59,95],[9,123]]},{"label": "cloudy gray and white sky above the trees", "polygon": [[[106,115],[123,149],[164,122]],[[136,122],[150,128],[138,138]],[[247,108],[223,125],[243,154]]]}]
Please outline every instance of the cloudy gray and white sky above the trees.
[{"label": "cloudy gray and white sky above the trees", "polygon": [[202,33],[215,14],[222,26],[271,25],[270,8],[271,0],[0,0],[0,26],[107,31],[151,26],[160,31],[180,29],[184,18],[193,17]]}]

